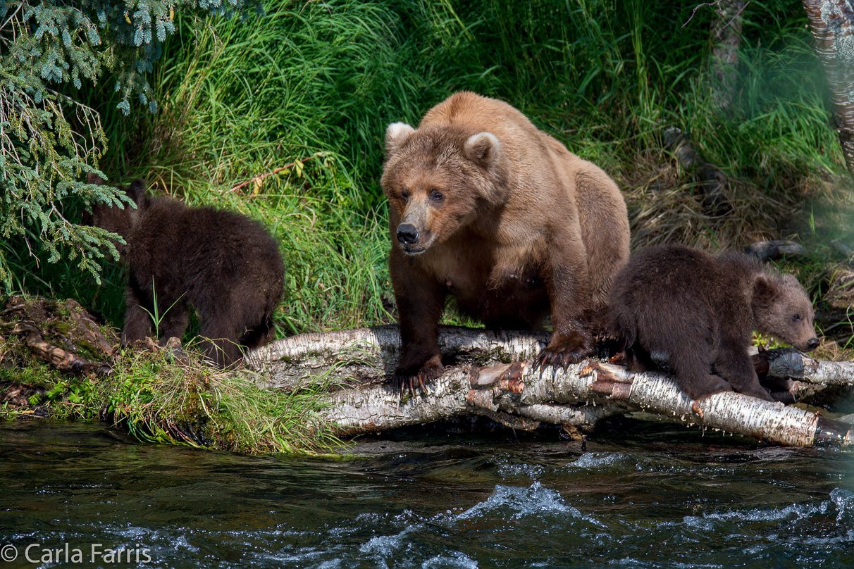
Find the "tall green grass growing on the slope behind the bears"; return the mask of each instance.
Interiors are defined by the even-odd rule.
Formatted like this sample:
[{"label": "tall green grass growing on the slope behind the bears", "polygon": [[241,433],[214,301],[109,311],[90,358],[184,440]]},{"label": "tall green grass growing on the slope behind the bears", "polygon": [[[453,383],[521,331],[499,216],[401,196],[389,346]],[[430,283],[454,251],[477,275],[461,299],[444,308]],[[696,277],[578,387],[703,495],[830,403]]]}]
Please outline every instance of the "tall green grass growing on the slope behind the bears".
[{"label": "tall green grass growing on the slope behind the bears", "polygon": [[[689,133],[732,177],[734,202],[752,207],[764,196],[788,208],[731,216],[731,224],[764,224],[751,235],[799,230],[780,218],[795,223],[839,165],[798,2],[746,9],[739,91],[726,115],[708,96],[709,7],[693,17],[693,4],[640,0],[278,0],[264,8],[263,17],[213,17],[204,26],[176,15],[177,32],[150,77],[158,113],[126,117],[104,84],[81,96],[108,134],[101,164],[110,179],[147,177],[160,191],[247,212],[272,229],[289,267],[280,334],[390,318],[377,183],[383,131],[390,121],[417,124],[455,90],[511,102],[609,171],[626,189],[635,246],[721,234],[721,220],[692,210],[693,180],[662,150],[667,125]],[[676,179],[652,194],[668,165]],[[646,200],[663,195],[685,201],[673,216],[681,232],[667,212],[641,214]],[[713,244],[740,244],[733,235]],[[15,262],[20,287],[82,299],[120,322],[114,264],[105,264],[107,287],[99,289],[62,265]]]}]

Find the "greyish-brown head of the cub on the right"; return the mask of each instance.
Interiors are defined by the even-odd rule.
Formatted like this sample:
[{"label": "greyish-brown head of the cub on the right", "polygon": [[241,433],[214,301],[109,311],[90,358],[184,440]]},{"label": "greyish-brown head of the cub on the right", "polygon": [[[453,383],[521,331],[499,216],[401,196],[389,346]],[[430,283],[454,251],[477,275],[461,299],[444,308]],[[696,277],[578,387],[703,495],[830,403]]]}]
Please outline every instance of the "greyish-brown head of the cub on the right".
[{"label": "greyish-brown head of the cub on the right", "polygon": [[759,332],[771,334],[800,351],[818,347],[810,297],[794,276],[758,275],[751,305]]}]

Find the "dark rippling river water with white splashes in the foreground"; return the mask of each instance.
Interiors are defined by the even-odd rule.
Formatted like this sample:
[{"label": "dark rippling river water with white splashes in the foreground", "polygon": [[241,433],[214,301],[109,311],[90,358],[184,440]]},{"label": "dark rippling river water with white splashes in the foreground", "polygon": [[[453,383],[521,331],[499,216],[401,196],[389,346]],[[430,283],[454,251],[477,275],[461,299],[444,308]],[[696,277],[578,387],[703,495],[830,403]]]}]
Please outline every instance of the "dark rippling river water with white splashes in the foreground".
[{"label": "dark rippling river water with white splashes in the foreground", "polygon": [[556,432],[423,431],[349,452],[243,456],[5,422],[0,569],[854,567],[850,452],[641,422],[585,450]]}]

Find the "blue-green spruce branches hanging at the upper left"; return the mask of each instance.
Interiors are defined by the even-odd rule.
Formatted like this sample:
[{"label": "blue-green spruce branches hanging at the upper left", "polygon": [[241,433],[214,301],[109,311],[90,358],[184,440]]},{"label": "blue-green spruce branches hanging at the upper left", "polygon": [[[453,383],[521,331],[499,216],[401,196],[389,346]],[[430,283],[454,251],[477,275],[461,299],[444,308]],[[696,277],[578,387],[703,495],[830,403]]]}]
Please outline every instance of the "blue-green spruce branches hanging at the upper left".
[{"label": "blue-green spruce branches hanging at the upper left", "polygon": [[[85,183],[108,141],[97,111],[79,92],[107,75],[111,104],[130,112],[132,96],[156,112],[149,84],[175,10],[243,9],[245,0],[55,0],[0,5],[0,286],[12,286],[9,253],[26,242],[49,263],[66,257],[97,279],[101,229],[81,227],[68,202],[116,202],[114,188]],[[254,5],[254,4],[253,4]],[[70,210],[74,212],[74,210]],[[29,253],[29,250],[28,250]],[[17,267],[20,271],[20,265]],[[20,275],[16,275],[20,284]]]}]

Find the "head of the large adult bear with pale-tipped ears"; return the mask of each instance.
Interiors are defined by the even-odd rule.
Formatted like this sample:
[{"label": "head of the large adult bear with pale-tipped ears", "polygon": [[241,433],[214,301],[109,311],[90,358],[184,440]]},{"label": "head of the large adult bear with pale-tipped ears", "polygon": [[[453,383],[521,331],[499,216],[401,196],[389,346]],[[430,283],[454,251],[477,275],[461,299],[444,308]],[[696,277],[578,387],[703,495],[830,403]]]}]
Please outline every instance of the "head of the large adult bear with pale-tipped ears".
[{"label": "head of the large adult bear with pale-tipped ears", "polygon": [[447,241],[503,200],[501,145],[490,132],[393,123],[385,148],[392,241],[408,255]]}]

